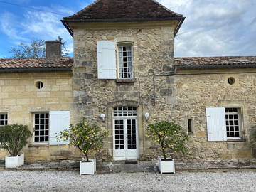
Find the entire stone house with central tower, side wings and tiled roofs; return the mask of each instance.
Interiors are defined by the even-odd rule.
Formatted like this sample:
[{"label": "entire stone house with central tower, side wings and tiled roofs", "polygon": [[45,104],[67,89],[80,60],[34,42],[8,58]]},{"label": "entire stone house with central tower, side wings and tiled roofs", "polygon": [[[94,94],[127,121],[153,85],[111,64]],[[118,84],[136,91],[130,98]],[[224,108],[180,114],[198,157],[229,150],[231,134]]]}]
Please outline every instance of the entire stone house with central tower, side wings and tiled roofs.
[{"label": "entire stone house with central tower, side wings and tiled roofs", "polygon": [[[62,21],[74,38],[73,60],[34,60],[33,72],[0,71],[0,115],[31,130],[35,113],[68,112],[70,123],[87,117],[108,130],[101,156],[112,160],[156,158],[146,126],[174,119],[188,132],[190,149],[175,159],[252,159],[256,57],[174,58],[183,20],[153,0],[95,1]],[[17,68],[24,60],[0,62],[6,70],[6,63]],[[27,160],[80,155],[33,139],[24,149]]]}]

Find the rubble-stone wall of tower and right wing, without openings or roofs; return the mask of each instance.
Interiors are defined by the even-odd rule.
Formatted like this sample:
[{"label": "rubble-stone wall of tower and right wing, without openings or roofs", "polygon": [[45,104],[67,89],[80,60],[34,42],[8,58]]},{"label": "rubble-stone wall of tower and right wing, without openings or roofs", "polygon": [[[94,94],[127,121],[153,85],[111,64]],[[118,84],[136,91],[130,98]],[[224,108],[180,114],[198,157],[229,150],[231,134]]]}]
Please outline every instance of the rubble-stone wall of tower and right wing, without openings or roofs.
[{"label": "rubble-stone wall of tower and right wing, without openings or roofs", "polygon": [[[175,119],[184,129],[187,129],[187,119],[193,119],[194,133],[190,135],[189,142],[191,151],[176,159],[251,158],[249,135],[255,127],[255,73],[224,71],[225,74],[171,75],[174,60],[172,31],[172,28],[75,29],[75,117],[95,119],[102,129],[109,130],[103,153],[110,157],[113,153],[113,107],[129,105],[138,107],[140,159],[158,155],[152,148],[154,145],[145,137],[148,123],[144,119],[145,112],[150,113],[150,121]],[[119,83],[117,80],[97,79],[97,41],[118,43],[122,39],[132,39],[136,80]],[[227,83],[230,75],[236,79],[233,86]],[[206,107],[228,106],[242,109],[245,141],[208,142]],[[107,115],[105,122],[99,118],[102,113]]]}]

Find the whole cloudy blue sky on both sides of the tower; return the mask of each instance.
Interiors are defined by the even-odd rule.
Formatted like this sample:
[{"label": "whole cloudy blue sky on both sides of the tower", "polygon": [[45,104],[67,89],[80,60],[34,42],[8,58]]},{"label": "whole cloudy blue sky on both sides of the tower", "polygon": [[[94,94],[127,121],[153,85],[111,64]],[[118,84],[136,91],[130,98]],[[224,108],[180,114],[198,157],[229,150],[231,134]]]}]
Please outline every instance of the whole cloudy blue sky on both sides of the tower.
[{"label": "whole cloudy blue sky on both sides of the tower", "polygon": [[[175,40],[176,57],[256,55],[256,0],[157,1],[186,16]],[[72,55],[73,39],[60,19],[90,3],[92,0],[0,0],[0,58],[8,58],[9,49],[21,42],[58,36]]]}]

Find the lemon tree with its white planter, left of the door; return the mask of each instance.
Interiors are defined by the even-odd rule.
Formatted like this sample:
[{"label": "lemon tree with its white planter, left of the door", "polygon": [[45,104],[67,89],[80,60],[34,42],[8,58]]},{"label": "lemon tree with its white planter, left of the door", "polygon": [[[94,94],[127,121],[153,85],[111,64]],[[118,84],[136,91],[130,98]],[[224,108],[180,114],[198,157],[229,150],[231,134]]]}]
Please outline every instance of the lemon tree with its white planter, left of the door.
[{"label": "lemon tree with its white planter, left of the door", "polygon": [[75,146],[84,156],[80,161],[80,175],[94,174],[96,171],[96,159],[89,159],[89,154],[100,151],[103,140],[107,136],[107,131],[100,129],[97,123],[89,122],[85,117],[69,129],[65,129],[56,136],[57,140],[70,140],[70,146]]}]

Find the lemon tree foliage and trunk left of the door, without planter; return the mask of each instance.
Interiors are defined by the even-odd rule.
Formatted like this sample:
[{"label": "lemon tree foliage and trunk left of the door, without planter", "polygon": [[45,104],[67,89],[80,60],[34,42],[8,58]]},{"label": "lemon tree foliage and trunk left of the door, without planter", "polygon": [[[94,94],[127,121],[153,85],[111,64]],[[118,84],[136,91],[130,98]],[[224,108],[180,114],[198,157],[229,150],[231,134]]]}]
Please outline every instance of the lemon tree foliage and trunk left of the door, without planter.
[{"label": "lemon tree foliage and trunk left of the door, without planter", "polygon": [[82,118],[77,124],[70,124],[69,129],[60,132],[56,137],[58,140],[67,141],[70,139],[71,146],[77,147],[89,161],[88,154],[99,151],[103,144],[103,139],[107,136],[107,131],[103,131],[96,123],[89,122]]}]

